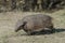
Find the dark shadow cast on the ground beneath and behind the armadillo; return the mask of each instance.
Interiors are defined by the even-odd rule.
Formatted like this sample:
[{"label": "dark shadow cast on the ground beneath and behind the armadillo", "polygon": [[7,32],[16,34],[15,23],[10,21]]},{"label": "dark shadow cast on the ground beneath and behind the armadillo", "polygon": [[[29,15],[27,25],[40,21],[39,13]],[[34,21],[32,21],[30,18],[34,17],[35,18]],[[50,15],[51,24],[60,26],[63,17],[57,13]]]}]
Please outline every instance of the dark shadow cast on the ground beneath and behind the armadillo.
[{"label": "dark shadow cast on the ground beneath and behind the armadillo", "polygon": [[52,34],[52,33],[57,33],[57,32],[63,32],[63,31],[65,31],[65,29],[57,28],[57,29],[54,29],[52,32],[50,30],[43,30],[40,32],[34,32],[34,33],[35,33],[35,35],[40,35],[40,34]]}]

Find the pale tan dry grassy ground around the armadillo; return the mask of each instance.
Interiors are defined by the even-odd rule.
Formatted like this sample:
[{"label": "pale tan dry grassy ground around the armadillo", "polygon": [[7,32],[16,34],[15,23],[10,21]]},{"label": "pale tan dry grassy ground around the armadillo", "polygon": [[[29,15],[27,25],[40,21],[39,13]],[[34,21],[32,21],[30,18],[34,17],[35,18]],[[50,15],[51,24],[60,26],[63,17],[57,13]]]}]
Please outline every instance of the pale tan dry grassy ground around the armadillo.
[{"label": "pale tan dry grassy ground around the armadillo", "polygon": [[[0,13],[0,43],[65,43],[65,10],[47,13],[53,17],[55,33],[26,35],[23,30],[15,32],[15,24],[26,15],[34,12],[6,12]],[[41,14],[44,14],[41,12]]]}]

